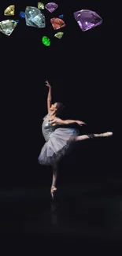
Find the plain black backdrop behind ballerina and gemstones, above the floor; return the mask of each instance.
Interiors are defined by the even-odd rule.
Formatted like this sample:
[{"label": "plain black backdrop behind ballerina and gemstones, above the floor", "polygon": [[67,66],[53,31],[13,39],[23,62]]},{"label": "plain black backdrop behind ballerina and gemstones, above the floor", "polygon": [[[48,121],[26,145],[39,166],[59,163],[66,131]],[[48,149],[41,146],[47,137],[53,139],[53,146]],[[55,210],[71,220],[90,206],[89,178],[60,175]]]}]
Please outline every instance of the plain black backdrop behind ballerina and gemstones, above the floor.
[{"label": "plain black backdrop behind ballerina and gemstones, above the floor", "polygon": [[[58,9],[46,9],[46,28],[31,28],[19,17],[26,6],[35,1],[6,1],[3,10],[16,5],[14,20],[19,19],[10,36],[0,34],[1,42],[1,128],[2,128],[2,187],[50,187],[50,167],[38,164],[38,156],[45,143],[41,131],[46,115],[48,93],[45,80],[52,85],[53,102],[65,104],[65,117],[79,119],[87,127],[81,134],[113,132],[114,112],[114,37],[113,3],[98,1],[58,1]],[[102,18],[102,25],[82,32],[73,12],[92,9]],[[51,17],[64,14],[66,27],[61,40],[54,38]],[[10,17],[11,18],[11,17]],[[44,46],[43,35],[51,45]],[[114,138],[114,135],[113,135]],[[113,138],[92,139],[78,143],[72,153],[61,161],[58,185],[105,182],[118,175],[115,168]],[[2,162],[1,162],[2,164]]]}]

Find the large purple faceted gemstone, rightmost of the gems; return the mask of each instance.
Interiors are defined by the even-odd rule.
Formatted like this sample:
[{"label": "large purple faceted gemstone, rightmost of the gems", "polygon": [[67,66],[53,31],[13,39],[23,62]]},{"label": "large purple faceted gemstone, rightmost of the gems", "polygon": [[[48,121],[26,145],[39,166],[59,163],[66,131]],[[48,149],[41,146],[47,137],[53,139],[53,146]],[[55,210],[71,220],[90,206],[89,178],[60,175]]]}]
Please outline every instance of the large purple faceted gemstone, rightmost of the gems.
[{"label": "large purple faceted gemstone, rightmost of the gems", "polygon": [[102,24],[102,17],[89,9],[77,11],[74,17],[83,32]]}]

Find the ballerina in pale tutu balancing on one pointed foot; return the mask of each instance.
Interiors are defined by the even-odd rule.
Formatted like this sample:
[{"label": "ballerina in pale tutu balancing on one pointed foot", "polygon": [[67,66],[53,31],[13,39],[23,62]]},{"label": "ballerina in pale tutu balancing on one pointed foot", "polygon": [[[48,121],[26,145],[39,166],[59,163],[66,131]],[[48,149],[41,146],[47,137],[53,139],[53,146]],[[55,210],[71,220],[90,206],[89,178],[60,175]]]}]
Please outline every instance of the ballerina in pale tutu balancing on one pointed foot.
[{"label": "ballerina in pale tutu balancing on one pointed foot", "polygon": [[61,125],[79,124],[85,125],[83,121],[76,120],[62,120],[60,114],[64,109],[61,102],[51,103],[51,86],[46,80],[46,87],[49,87],[47,97],[48,114],[43,118],[42,132],[46,140],[41,153],[39,154],[39,164],[53,166],[53,180],[50,188],[50,194],[54,198],[54,192],[57,190],[57,163],[66,154],[71,144],[76,141],[84,139],[91,139],[97,137],[107,137],[113,135],[113,132],[104,132],[101,134],[79,135],[76,128],[64,128]]}]

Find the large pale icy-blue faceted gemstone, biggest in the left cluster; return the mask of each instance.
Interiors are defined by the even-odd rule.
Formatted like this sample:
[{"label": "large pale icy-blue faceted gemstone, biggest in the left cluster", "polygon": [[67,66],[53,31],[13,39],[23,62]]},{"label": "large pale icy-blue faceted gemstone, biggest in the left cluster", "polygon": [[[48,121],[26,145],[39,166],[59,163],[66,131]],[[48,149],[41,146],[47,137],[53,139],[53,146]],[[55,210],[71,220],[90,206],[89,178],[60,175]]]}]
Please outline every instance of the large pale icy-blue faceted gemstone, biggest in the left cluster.
[{"label": "large pale icy-blue faceted gemstone, biggest in the left cluster", "polygon": [[25,10],[25,20],[27,26],[35,28],[45,28],[46,20],[40,9],[32,6],[27,6]]}]

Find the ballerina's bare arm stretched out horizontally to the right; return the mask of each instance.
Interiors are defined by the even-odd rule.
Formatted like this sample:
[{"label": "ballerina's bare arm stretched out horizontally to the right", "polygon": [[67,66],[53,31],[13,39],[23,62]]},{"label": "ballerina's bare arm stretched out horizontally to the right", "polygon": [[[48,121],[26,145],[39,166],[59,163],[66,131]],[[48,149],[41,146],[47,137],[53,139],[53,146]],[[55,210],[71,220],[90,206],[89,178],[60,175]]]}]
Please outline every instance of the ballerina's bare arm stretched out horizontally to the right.
[{"label": "ballerina's bare arm stretched out horizontally to the right", "polygon": [[50,121],[50,123],[54,126],[56,124],[60,124],[60,125],[64,125],[64,124],[79,124],[80,126],[82,126],[83,124],[85,124],[83,121],[79,121],[79,120],[62,120],[61,118],[54,118],[54,120]]}]

